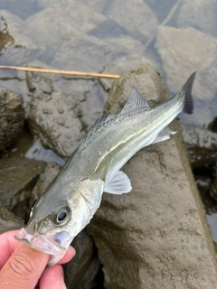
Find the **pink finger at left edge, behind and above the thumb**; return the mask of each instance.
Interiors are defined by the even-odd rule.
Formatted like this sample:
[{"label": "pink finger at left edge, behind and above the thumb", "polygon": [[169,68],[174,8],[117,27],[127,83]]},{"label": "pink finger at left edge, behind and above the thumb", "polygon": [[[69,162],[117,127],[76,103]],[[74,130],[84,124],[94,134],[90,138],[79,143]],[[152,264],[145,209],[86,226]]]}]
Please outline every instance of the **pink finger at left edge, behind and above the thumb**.
[{"label": "pink finger at left edge, behind and above the thumb", "polygon": [[5,265],[6,261],[14,252],[15,248],[20,244],[19,241],[14,239],[14,236],[19,232],[19,230],[5,232],[0,235],[0,270]]}]

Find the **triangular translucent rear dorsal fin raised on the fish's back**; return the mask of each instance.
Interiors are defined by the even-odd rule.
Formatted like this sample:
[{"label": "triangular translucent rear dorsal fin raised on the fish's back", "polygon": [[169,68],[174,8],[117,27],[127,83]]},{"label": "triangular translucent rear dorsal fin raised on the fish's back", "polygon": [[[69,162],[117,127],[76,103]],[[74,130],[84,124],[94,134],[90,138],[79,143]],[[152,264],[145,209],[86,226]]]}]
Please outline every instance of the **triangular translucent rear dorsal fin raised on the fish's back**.
[{"label": "triangular translucent rear dorsal fin raised on the fish's back", "polygon": [[146,99],[140,95],[137,89],[133,88],[130,92],[127,103],[121,110],[120,114],[126,114],[127,112],[141,107],[146,108],[146,110],[151,110],[151,107],[148,106]]}]

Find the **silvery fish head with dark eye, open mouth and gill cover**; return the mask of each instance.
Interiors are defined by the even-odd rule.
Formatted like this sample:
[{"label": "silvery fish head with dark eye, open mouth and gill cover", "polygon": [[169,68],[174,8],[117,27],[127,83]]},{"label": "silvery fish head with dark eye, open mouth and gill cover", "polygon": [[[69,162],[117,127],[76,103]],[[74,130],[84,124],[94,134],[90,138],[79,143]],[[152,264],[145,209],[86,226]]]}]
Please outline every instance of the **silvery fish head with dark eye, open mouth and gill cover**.
[{"label": "silvery fish head with dark eye, open mouth and gill cover", "polygon": [[33,205],[27,225],[15,236],[28,246],[50,254],[49,266],[64,256],[71,240],[90,222],[97,210],[93,208],[96,207],[94,196],[102,192],[102,185],[99,188],[99,182],[85,180],[74,187],[64,186],[61,193],[55,191],[52,187],[42,194]]}]

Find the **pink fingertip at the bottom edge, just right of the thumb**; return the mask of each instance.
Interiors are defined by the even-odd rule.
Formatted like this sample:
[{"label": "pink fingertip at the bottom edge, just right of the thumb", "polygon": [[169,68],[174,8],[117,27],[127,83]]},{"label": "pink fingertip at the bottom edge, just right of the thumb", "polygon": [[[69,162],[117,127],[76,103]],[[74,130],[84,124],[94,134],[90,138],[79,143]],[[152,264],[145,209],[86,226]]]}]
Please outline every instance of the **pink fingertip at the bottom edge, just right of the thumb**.
[{"label": "pink fingertip at the bottom edge, just right of the thumb", "polygon": [[63,289],[66,288],[63,281],[63,270],[61,265],[45,268],[40,279],[40,289]]}]

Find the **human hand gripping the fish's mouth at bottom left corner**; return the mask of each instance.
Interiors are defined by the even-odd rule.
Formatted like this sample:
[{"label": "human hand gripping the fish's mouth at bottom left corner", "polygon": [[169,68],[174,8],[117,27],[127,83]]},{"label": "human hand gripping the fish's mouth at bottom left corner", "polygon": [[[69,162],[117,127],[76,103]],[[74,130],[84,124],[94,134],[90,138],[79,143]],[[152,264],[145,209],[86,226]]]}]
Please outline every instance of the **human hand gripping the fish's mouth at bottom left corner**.
[{"label": "human hand gripping the fish's mouth at bottom left corner", "polygon": [[73,247],[58,264],[45,267],[50,256],[15,240],[17,233],[14,230],[0,235],[0,289],[66,288],[60,264],[75,256]]}]

